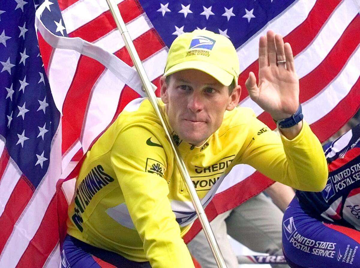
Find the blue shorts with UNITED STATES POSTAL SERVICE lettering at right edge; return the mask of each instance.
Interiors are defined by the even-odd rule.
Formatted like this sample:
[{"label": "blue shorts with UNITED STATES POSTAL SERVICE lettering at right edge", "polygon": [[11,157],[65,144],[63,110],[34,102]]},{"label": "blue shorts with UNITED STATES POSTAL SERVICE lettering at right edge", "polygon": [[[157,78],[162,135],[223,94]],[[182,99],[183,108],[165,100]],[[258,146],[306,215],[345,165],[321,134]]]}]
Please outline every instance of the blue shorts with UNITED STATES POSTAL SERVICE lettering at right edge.
[{"label": "blue shorts with UNITED STATES POSTAL SERVICE lettering at right edge", "polygon": [[311,217],[296,197],[284,213],[282,239],[292,268],[360,268],[360,232]]}]

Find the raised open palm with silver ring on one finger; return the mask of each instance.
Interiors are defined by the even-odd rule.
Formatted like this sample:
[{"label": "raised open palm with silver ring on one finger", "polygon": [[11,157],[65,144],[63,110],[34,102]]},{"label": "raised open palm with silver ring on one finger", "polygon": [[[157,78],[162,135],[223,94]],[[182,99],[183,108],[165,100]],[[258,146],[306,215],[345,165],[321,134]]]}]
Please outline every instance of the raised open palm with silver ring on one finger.
[{"label": "raised open palm with silver ring on one finger", "polygon": [[246,88],[250,98],[275,120],[292,116],[299,105],[299,79],[289,43],[268,31],[259,41],[259,83],[249,73]]}]

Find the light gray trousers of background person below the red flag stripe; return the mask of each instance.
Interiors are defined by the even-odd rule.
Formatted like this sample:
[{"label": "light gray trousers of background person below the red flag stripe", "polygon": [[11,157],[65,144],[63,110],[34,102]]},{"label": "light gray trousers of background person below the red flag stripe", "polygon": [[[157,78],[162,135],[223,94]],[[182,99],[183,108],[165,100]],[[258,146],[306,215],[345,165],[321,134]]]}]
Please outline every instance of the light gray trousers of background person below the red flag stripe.
[{"label": "light gray trousers of background person below the red flag stripe", "polygon": [[[283,212],[263,193],[252,197],[233,210],[218,215],[210,225],[226,266],[239,267],[227,234],[253,251],[283,255],[282,218]],[[217,268],[203,231],[189,242],[188,248],[202,268]],[[272,267],[289,268],[288,265],[283,264]]]}]

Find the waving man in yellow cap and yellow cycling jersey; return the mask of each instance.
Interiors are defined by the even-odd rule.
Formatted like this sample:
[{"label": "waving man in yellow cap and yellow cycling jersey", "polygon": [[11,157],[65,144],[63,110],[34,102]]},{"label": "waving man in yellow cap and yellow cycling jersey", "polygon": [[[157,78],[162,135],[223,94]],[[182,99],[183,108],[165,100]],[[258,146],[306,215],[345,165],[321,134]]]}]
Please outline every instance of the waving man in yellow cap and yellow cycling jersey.
[{"label": "waving man in yellow cap and yellow cycling jersey", "polygon": [[[283,127],[282,139],[250,109],[235,108],[241,87],[230,40],[195,30],[169,50],[160,106],[204,203],[239,163],[295,188],[324,187],[327,166],[302,121],[290,45],[269,31],[259,63],[259,86],[250,73],[249,94]],[[194,209],[148,99],[130,102],[87,152],[68,215],[63,259],[71,267],[97,265],[98,258],[118,267],[193,267],[181,237]]]}]

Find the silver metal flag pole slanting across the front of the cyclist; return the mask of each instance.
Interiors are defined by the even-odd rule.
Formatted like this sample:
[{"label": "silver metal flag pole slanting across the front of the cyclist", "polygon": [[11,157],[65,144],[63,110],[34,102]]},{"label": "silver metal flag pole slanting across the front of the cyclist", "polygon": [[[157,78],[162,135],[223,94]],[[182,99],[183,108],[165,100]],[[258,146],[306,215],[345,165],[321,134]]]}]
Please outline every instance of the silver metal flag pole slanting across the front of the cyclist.
[{"label": "silver metal flag pole slanting across the front of the cyclist", "polygon": [[169,129],[168,125],[166,124],[166,121],[164,120],[164,115],[162,114],[162,111],[161,111],[161,108],[157,101],[156,95],[152,89],[151,82],[145,72],[143,64],[140,61],[140,58],[139,58],[138,53],[136,52],[135,46],[132,43],[131,37],[130,37],[129,32],[127,31],[126,25],[121,17],[120,11],[113,0],[106,0],[106,1],[108,3],[111,14],[114,17],[117,28],[121,33],[122,39],[124,40],[125,46],[126,46],[127,50],[129,51],[132,62],[134,62],[136,71],[138,71],[138,73],[139,73],[139,76],[140,76],[141,82],[143,84],[143,87],[145,89],[145,92],[147,93],[148,98],[149,98],[152,106],[154,107],[154,110],[155,110],[157,116],[159,117],[159,120],[161,121],[161,124],[166,133],[166,137],[168,138],[168,140],[171,144],[172,150],[174,151],[174,156],[176,159],[177,167],[180,171],[181,176],[184,179],[186,188],[188,189],[188,191],[190,193],[190,197],[191,197],[191,200],[195,207],[196,214],[198,215],[198,218],[199,218],[201,226],[204,230],[206,239],[210,245],[212,254],[214,255],[217,267],[225,268],[226,264],[225,264],[224,258],[221,255],[219,245],[216,242],[214,233],[212,232],[212,229],[210,227],[210,224],[209,224],[209,221],[205,214],[205,211],[204,211],[204,209],[201,205],[201,202],[199,200],[199,197],[195,191],[195,188],[194,188],[193,182],[190,178],[190,175],[189,175],[188,171],[186,170],[185,163],[184,163],[183,159],[180,157],[180,153],[179,153],[177,147],[175,146],[174,141],[171,138],[170,129]]}]

